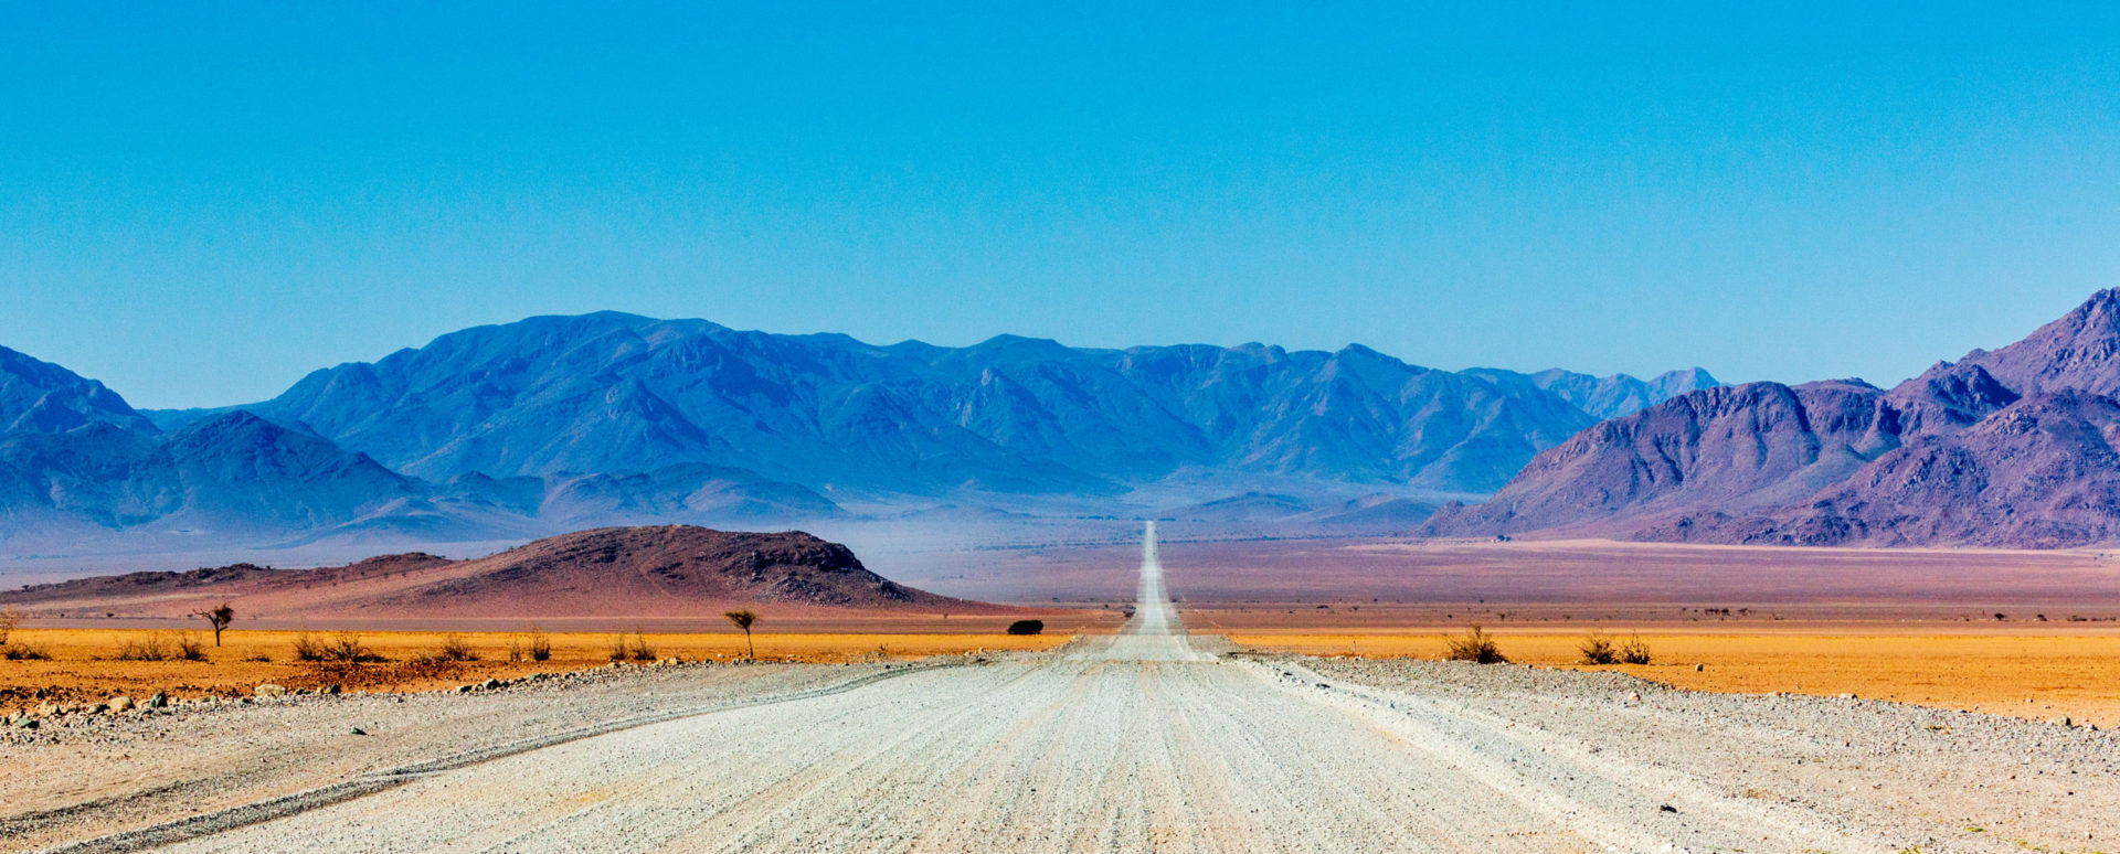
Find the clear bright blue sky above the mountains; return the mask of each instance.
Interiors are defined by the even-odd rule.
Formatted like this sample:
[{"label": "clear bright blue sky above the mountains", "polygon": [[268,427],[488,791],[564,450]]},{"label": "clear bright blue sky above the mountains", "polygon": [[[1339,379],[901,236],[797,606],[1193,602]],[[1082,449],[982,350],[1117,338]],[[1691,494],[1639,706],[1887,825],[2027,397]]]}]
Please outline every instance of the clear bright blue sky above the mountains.
[{"label": "clear bright blue sky above the mountains", "polygon": [[2120,284],[2114,4],[0,0],[0,343],[530,314],[1891,384]]}]

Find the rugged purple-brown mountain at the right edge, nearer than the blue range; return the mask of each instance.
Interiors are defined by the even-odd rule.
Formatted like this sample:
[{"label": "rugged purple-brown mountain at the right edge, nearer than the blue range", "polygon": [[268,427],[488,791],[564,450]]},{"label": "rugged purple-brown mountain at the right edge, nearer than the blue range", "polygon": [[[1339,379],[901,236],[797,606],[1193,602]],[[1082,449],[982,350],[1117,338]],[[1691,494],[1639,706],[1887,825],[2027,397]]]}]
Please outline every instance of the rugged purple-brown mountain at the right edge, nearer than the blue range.
[{"label": "rugged purple-brown mountain at the right edge, nearer than the blue range", "polygon": [[2120,290],[2025,341],[1859,381],[1685,394],[1552,447],[1444,536],[1577,530],[1772,545],[2120,538]]}]

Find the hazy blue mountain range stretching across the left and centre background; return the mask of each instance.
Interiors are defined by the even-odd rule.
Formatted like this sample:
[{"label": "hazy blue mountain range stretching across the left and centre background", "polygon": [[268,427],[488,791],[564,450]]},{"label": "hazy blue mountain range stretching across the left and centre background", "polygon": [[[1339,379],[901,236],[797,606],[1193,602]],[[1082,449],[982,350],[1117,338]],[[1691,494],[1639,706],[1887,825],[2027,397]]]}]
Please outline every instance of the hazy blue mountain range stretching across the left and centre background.
[{"label": "hazy blue mountain range stretching across the left and centre background", "polygon": [[138,413],[0,350],[0,553],[519,540],[829,519],[848,500],[1073,515],[1143,485],[1145,511],[1270,487],[1297,496],[1202,513],[1403,530],[1427,496],[1492,492],[1592,413],[1704,386],[1698,369],[1433,371],[1361,345],[869,345],[589,314],[443,335],[250,407]]}]

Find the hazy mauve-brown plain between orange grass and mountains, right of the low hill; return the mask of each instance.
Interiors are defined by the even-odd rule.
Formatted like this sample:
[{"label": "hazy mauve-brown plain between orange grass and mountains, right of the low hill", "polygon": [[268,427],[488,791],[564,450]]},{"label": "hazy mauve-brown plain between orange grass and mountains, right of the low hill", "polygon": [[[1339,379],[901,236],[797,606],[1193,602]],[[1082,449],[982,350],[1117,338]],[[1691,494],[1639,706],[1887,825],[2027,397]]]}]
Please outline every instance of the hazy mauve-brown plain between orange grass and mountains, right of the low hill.
[{"label": "hazy mauve-brown plain between orange grass and mountains, right of the low hill", "polygon": [[[1480,619],[1632,623],[2120,621],[2120,551],[1806,549],[1613,540],[1164,540],[1196,631],[1391,629]],[[1105,608],[1138,545],[931,553],[893,574],[988,602]],[[1317,606],[1329,608],[1317,608]],[[1357,610],[1359,608],[1359,610]],[[1721,610],[1728,608],[1728,615]],[[1452,615],[1452,619],[1446,619]],[[1507,617],[1501,617],[1507,615]]]}]

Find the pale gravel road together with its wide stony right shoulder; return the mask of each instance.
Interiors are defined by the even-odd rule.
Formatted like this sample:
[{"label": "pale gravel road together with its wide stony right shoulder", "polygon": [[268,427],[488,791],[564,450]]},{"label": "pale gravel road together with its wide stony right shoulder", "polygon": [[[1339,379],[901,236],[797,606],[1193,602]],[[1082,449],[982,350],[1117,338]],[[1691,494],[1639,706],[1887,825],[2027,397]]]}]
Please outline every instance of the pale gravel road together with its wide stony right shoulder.
[{"label": "pale gravel road together with its wide stony right shoulder", "polygon": [[2120,848],[2112,733],[1613,674],[1225,653],[1183,634],[1153,551],[1119,638],[759,697],[223,814],[229,829],[167,850]]}]

